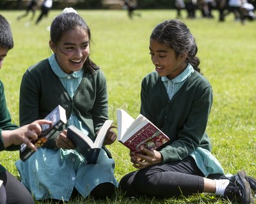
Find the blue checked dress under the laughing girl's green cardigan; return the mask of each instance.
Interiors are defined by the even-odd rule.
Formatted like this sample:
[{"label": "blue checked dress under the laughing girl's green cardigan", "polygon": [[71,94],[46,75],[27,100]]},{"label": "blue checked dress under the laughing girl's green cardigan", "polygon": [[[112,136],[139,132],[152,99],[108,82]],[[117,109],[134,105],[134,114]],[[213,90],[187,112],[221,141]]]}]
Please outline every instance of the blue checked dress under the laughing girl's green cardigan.
[{"label": "blue checked dress under the laughing girl's green cardigan", "polygon": [[[52,70],[72,97],[81,82],[83,70],[67,75],[56,62],[54,54],[48,60]],[[88,132],[86,125],[82,124],[74,113],[68,119],[68,125],[71,124],[85,133]],[[76,150],[42,147],[26,162],[19,160],[15,165],[19,170],[22,184],[29,189],[36,200],[51,198],[68,201],[74,187],[86,197],[101,183],[110,182],[118,186],[114,177],[115,162],[108,158],[103,149],[100,151],[97,164],[84,163]]]}]

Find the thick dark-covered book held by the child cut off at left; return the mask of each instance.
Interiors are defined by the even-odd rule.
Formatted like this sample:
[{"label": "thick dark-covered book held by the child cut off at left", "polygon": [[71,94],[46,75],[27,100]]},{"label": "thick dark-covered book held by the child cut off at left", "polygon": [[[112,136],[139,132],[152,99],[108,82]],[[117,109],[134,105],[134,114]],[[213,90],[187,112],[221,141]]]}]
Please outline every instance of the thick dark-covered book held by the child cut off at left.
[{"label": "thick dark-covered book held by the child cut off at left", "polygon": [[[48,138],[50,138],[56,131],[58,131],[59,128],[67,123],[66,111],[62,106],[58,105],[44,119],[51,120],[52,124],[43,124],[41,126],[41,135],[38,136],[36,141],[31,141],[37,148],[42,147],[42,145],[47,142]],[[28,159],[28,157],[30,157],[33,152],[34,150],[27,147],[25,143],[20,145],[20,159],[22,161],[26,161],[26,159]]]}]

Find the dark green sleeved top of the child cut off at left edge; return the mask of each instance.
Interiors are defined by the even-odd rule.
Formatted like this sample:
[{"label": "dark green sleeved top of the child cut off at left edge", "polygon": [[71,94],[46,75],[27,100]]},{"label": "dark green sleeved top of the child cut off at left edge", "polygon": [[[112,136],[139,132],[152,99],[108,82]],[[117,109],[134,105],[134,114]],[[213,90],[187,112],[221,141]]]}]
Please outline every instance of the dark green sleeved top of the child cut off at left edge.
[{"label": "dark green sleeved top of the child cut off at left edge", "polygon": [[[2,131],[8,129],[16,129],[19,128],[15,124],[12,124],[12,119],[10,112],[6,106],[6,99],[4,96],[4,85],[3,82],[0,81],[0,151],[2,150],[19,150],[19,145],[11,145],[10,147],[4,148],[3,140],[2,140]],[[0,164],[0,172],[5,171],[6,169]]]}]

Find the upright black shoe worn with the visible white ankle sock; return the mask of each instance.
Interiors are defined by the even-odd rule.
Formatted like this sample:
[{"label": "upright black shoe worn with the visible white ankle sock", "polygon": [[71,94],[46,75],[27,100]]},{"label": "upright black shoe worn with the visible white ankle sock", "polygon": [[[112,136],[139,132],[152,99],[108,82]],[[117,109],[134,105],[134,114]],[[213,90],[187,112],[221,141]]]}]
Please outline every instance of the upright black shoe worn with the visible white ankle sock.
[{"label": "upright black shoe worn with the visible white ankle sock", "polygon": [[252,192],[245,171],[239,171],[229,177],[230,183],[225,189],[224,198],[230,201],[239,201],[243,204],[253,203]]}]

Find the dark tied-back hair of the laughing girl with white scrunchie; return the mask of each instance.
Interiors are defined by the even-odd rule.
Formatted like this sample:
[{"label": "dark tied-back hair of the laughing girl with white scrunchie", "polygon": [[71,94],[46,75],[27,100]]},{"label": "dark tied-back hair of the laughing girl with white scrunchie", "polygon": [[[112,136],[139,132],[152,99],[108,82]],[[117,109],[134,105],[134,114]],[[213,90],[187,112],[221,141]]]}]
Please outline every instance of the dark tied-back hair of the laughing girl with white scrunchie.
[{"label": "dark tied-back hair of the laughing girl with white scrunchie", "polygon": [[[76,29],[76,27],[82,27],[86,33],[88,34],[89,42],[92,41],[91,31],[86,22],[81,18],[77,13],[61,13],[57,17],[54,18],[51,24],[51,41],[58,45],[60,42],[61,36],[63,33],[70,31],[70,29]],[[89,43],[90,45],[90,43]],[[86,61],[84,62],[86,71],[90,71],[93,73],[95,69],[99,69],[99,67],[90,59],[88,56]]]}]

